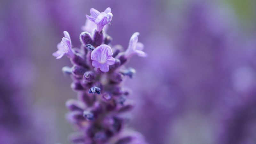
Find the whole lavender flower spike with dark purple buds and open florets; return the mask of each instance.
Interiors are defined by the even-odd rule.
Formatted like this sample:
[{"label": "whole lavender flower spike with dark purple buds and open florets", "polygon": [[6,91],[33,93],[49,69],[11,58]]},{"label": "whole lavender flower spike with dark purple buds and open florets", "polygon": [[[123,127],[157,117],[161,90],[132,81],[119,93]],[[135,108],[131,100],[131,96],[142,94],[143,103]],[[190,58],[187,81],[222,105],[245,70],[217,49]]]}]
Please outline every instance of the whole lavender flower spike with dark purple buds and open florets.
[{"label": "whole lavender flower spike with dark purple buds and open florets", "polygon": [[[113,54],[108,45],[111,37],[106,33],[103,35],[102,28],[112,18],[110,10],[107,8],[100,13],[91,9],[92,17],[87,15],[87,18],[97,24],[96,30],[92,31],[92,36],[88,31],[81,33],[80,50],[72,51],[69,35],[64,31],[65,38],[61,43],[64,48],[59,46],[59,50],[53,53],[57,58],[66,54],[73,64],[72,68],[62,68],[65,75],[71,76],[71,88],[78,94],[78,100],[68,100],[66,103],[69,110],[66,118],[79,131],[69,137],[73,144],[147,144],[139,132],[125,127],[127,118],[124,113],[134,105],[132,100],[127,100],[129,92],[122,85],[124,77],[132,78],[135,69],[122,65],[125,54],[117,48],[113,49]],[[134,53],[146,56],[141,51],[143,44],[137,43],[138,35],[134,33],[132,36],[125,60]],[[123,57],[118,59],[118,54]]]}]

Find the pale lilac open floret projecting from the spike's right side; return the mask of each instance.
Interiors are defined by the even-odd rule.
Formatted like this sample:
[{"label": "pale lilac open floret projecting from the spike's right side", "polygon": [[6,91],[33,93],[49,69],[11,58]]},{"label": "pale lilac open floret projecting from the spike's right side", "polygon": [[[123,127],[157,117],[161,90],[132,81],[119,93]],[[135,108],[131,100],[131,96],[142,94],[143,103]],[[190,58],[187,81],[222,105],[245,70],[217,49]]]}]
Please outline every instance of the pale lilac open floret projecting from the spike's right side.
[{"label": "pale lilac open floret projecting from the spike's right side", "polygon": [[[147,57],[148,54],[143,52],[144,44],[138,42],[138,36],[140,35],[139,32],[135,32],[129,42],[127,50],[124,52],[125,58],[130,58],[132,55],[137,54],[140,57]],[[121,53],[120,53],[121,54]]]}]

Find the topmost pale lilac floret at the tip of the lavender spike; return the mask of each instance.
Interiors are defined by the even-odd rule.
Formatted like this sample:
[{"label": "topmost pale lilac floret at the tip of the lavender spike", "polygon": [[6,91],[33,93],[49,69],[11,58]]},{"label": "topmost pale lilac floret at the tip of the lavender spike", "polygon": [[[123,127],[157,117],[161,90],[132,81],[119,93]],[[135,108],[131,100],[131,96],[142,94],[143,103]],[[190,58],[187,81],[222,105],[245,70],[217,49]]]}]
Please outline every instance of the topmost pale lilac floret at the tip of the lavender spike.
[{"label": "topmost pale lilac floret at the tip of the lavender spike", "polygon": [[110,7],[108,7],[104,12],[99,12],[94,8],[91,8],[90,13],[92,16],[86,15],[86,18],[96,24],[97,31],[101,31],[103,27],[108,24],[113,17]]}]

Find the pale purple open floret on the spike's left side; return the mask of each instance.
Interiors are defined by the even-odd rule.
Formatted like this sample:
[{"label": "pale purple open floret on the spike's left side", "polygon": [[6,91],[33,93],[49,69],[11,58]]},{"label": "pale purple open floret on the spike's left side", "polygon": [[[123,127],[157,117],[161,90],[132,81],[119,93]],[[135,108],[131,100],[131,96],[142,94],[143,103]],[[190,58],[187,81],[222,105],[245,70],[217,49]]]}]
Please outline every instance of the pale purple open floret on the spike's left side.
[{"label": "pale purple open floret on the spike's left side", "polygon": [[72,43],[70,36],[67,31],[64,31],[64,36],[59,44],[57,44],[58,51],[53,52],[52,55],[56,57],[56,59],[60,59],[63,55],[67,55],[68,58],[74,58],[75,54],[72,51]]}]

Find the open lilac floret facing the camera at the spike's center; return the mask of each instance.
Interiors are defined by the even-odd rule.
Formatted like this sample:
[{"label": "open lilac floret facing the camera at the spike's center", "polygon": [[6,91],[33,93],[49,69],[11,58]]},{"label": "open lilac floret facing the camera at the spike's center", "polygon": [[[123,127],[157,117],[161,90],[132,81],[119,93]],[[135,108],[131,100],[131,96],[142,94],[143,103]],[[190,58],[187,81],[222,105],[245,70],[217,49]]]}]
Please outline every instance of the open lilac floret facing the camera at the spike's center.
[{"label": "open lilac floret facing the camera at the spike's center", "polygon": [[100,68],[103,72],[108,72],[109,65],[115,64],[115,58],[113,58],[112,55],[111,47],[107,44],[101,44],[92,51],[92,66]]}]

